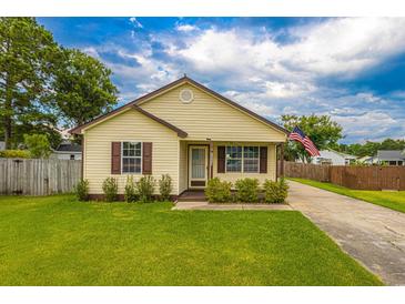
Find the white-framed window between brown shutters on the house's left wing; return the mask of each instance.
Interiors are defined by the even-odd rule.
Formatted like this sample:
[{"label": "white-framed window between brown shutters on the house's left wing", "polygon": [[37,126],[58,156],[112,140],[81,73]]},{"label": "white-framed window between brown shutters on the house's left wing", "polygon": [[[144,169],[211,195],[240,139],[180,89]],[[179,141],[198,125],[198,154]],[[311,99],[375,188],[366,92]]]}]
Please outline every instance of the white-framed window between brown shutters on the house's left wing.
[{"label": "white-framed window between brown shutters on the house's left wing", "polygon": [[142,143],[122,143],[122,173],[142,172]]}]

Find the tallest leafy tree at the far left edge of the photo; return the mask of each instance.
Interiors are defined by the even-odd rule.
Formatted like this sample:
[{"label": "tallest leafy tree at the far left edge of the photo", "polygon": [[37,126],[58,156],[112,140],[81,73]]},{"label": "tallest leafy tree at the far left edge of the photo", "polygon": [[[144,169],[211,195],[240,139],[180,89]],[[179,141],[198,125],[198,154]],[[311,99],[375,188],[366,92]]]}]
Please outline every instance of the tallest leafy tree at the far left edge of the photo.
[{"label": "tallest leafy tree at the far left edge of the photo", "polygon": [[6,149],[18,144],[16,128],[47,125],[47,84],[58,45],[33,18],[0,18],[0,120]]}]

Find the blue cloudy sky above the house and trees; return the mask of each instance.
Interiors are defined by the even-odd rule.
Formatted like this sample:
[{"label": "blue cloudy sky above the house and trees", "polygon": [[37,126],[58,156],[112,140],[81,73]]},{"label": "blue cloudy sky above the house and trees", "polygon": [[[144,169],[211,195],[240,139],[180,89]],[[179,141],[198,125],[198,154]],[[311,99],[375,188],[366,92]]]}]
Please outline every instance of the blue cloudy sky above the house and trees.
[{"label": "blue cloudy sky above the house and trees", "polygon": [[328,114],[342,143],[405,138],[405,18],[39,18],[112,72],[119,104],[184,73],[281,123]]}]

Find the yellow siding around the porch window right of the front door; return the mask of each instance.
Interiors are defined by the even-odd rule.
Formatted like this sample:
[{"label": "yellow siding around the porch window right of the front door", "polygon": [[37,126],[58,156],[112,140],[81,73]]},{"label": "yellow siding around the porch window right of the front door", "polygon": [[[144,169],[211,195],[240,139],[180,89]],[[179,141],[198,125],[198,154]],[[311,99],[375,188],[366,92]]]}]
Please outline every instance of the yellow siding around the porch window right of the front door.
[{"label": "yellow siding around the porch window right of the front door", "polygon": [[[217,173],[217,146],[219,145],[254,145],[254,146],[267,146],[267,173],[243,173],[243,172],[226,172]],[[252,178],[257,179],[262,184],[266,179],[275,181],[276,179],[276,153],[275,144],[273,143],[252,143],[252,142],[215,142],[214,143],[214,178],[219,178],[223,181],[232,182],[233,184],[239,179]]]}]

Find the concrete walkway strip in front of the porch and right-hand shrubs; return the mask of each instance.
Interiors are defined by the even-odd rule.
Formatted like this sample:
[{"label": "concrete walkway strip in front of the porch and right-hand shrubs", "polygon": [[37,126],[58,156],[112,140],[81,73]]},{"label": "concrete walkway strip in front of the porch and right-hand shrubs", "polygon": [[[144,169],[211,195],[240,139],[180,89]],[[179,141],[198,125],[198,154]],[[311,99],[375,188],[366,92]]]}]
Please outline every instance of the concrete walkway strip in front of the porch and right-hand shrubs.
[{"label": "concrete walkway strip in front of the porch and right-hand shrubs", "polygon": [[209,204],[209,202],[178,202],[172,210],[292,210],[282,204]]}]

